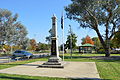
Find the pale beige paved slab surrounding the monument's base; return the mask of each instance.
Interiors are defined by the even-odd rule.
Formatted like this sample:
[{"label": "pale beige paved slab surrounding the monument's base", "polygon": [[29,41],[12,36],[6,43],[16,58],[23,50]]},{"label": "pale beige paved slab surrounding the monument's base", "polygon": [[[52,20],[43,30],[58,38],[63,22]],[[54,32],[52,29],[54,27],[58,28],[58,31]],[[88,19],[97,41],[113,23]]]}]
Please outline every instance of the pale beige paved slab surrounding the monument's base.
[{"label": "pale beige paved slab surrounding the monument's base", "polygon": [[0,73],[47,76],[62,78],[100,79],[95,62],[66,62],[64,69],[38,68],[43,62],[37,61],[25,65],[0,70]]}]

